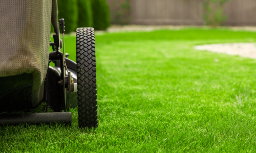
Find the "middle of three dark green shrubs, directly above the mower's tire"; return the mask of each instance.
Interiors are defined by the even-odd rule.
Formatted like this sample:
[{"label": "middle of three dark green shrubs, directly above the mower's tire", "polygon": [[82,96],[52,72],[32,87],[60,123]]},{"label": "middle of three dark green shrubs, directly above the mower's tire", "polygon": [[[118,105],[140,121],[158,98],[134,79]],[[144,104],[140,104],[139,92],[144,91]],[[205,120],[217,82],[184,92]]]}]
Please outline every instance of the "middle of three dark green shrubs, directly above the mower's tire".
[{"label": "middle of three dark green shrubs, directly above the mower's tire", "polygon": [[[94,0],[93,0],[94,1]],[[78,5],[78,27],[93,27],[93,13],[90,0],[77,0]]]}]

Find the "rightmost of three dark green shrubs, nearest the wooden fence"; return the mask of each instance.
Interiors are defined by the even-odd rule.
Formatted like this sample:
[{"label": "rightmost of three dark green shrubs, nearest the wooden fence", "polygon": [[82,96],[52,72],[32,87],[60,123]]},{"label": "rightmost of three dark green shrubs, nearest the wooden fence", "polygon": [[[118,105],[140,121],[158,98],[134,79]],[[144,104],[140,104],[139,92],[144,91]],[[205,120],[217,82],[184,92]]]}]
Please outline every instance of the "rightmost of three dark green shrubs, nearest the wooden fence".
[{"label": "rightmost of three dark green shrubs, nearest the wooden fence", "polygon": [[93,28],[106,30],[110,26],[109,4],[105,0],[92,0]]}]

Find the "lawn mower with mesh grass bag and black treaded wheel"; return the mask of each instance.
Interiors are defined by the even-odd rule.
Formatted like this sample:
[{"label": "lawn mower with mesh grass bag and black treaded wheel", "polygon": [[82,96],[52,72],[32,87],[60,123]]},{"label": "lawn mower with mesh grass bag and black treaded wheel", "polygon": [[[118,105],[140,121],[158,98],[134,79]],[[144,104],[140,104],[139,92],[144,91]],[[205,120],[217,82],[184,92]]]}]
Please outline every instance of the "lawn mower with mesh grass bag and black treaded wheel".
[{"label": "lawn mower with mesh grass bag and black treaded wheel", "polygon": [[[0,124],[71,124],[66,111],[78,107],[79,127],[98,126],[94,29],[76,30],[77,63],[65,54],[64,33],[57,0],[0,1]],[[29,113],[41,103],[45,113]]]}]

